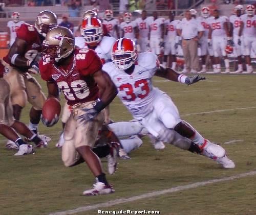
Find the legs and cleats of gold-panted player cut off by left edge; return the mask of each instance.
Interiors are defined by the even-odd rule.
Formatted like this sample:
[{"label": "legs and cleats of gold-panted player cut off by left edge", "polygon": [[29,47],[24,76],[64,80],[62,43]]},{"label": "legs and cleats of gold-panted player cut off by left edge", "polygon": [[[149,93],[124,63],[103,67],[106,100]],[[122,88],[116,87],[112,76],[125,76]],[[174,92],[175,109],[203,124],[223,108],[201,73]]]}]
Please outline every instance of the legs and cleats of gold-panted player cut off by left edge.
[{"label": "legs and cleats of gold-panted player cut off by left edge", "polygon": [[18,151],[15,155],[32,154],[34,152],[33,147],[28,145],[16,132],[34,142],[37,147],[45,147],[46,145],[25,124],[14,120],[10,87],[3,76],[4,66],[0,62],[0,133],[15,143],[10,147]]}]

